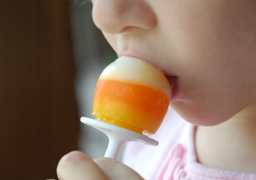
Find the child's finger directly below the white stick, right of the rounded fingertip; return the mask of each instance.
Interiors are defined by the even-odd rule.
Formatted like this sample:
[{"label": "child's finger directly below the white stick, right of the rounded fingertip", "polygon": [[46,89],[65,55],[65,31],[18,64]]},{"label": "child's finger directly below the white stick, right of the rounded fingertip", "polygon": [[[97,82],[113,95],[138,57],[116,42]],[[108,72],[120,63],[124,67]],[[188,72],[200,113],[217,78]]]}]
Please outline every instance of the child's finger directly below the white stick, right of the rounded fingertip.
[{"label": "child's finger directly below the white stick, right of the rounded fingertip", "polygon": [[97,158],[93,160],[111,180],[143,180],[134,170],[123,163],[111,158]]}]

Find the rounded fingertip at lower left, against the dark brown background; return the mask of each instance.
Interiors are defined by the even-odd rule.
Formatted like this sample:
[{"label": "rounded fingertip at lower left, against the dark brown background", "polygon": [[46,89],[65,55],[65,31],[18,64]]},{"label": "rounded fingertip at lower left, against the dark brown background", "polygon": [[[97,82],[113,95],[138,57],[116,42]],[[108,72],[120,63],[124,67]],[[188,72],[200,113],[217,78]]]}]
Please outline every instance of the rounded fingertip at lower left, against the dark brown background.
[{"label": "rounded fingertip at lower left, against the dark brown background", "polygon": [[57,175],[60,180],[109,180],[92,159],[80,151],[72,151],[60,159]]}]

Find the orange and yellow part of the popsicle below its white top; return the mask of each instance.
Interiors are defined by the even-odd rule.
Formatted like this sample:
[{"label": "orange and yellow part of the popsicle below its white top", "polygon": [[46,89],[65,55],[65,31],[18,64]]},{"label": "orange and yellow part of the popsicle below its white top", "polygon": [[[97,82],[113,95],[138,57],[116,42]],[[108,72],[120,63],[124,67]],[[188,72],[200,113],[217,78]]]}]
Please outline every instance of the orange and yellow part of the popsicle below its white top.
[{"label": "orange and yellow part of the popsicle below its white top", "polygon": [[168,104],[168,96],[150,86],[100,78],[92,114],[96,119],[137,133],[154,134],[166,115]]}]

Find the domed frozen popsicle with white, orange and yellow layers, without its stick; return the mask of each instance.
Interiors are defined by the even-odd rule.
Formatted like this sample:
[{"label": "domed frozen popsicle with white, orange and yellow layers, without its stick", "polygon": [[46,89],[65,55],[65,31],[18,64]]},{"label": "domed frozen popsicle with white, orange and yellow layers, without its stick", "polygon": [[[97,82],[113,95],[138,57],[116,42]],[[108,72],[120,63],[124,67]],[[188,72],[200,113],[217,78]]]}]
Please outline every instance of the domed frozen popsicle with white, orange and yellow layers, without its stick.
[{"label": "domed frozen popsicle with white, orange and yellow layers, without its stick", "polygon": [[140,134],[154,134],[166,115],[170,85],[164,73],[145,61],[120,57],[100,75],[92,115]]}]

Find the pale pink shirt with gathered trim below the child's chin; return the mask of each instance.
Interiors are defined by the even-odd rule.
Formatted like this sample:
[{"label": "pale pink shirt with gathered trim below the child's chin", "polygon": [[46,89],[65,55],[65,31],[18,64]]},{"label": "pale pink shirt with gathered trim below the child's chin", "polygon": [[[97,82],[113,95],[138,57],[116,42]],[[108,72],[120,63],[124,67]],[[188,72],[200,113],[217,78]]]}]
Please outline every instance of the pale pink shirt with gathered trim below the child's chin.
[{"label": "pale pink shirt with gathered trim below the child's chin", "polygon": [[146,180],[256,180],[256,173],[210,168],[196,162],[196,126],[169,108],[152,139],[157,147],[127,143],[123,162]]}]

